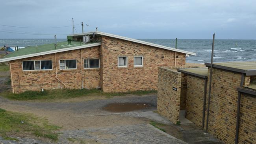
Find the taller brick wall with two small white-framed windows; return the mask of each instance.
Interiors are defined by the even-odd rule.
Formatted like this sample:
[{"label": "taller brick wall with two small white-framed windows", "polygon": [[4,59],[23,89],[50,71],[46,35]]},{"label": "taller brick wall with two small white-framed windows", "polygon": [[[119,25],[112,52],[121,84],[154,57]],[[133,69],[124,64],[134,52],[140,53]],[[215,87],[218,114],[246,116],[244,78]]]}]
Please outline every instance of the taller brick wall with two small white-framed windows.
[{"label": "taller brick wall with two small white-framed windows", "polygon": [[[157,89],[158,67],[174,66],[175,52],[135,42],[102,37],[101,50],[104,92]],[[117,67],[118,56],[128,57],[128,67]],[[143,56],[143,67],[134,67],[134,56]],[[184,66],[186,55],[177,56],[176,65]]]}]

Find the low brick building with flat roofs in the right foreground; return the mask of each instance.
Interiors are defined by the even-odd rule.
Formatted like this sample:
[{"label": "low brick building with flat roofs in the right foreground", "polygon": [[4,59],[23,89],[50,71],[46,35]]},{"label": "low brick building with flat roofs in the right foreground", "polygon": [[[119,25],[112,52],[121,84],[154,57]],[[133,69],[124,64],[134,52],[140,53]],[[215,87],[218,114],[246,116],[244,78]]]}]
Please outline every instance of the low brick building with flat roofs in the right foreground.
[{"label": "low brick building with flat roofs in the right foreground", "polygon": [[224,143],[256,144],[256,61],[213,63],[208,121],[210,64],[205,65],[160,67],[158,112],[176,123],[185,107],[188,120],[203,129],[208,124],[208,132]]}]

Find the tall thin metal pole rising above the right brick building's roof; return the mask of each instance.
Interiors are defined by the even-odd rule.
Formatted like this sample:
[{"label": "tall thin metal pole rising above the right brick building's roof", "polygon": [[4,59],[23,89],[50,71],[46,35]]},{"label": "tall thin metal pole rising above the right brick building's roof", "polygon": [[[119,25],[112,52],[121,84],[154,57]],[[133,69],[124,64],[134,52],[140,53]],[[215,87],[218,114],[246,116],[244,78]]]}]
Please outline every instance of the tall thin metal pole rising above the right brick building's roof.
[{"label": "tall thin metal pole rising above the right brick building's roof", "polygon": [[208,93],[208,105],[207,105],[207,117],[206,117],[206,133],[208,133],[208,120],[209,120],[209,111],[210,111],[210,98],[211,98],[211,77],[212,77],[212,65],[213,65],[213,51],[214,51],[214,39],[215,33],[212,37],[212,48],[211,48],[211,70],[210,70],[210,82],[209,82],[209,93]]}]

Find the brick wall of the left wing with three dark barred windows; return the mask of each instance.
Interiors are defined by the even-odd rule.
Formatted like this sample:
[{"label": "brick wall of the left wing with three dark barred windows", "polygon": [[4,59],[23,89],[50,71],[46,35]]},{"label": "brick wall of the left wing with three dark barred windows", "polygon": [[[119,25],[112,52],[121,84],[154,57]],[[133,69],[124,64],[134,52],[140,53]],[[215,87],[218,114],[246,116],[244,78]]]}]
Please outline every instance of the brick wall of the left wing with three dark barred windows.
[{"label": "brick wall of the left wing with three dark barred windows", "polygon": [[[82,73],[83,87],[100,87],[100,68],[84,69],[83,59],[100,58],[100,47],[82,49]],[[81,53],[80,50],[56,53],[57,76],[70,89],[80,89],[82,87],[81,79]],[[59,59],[76,59],[76,70],[60,70]],[[34,70],[22,71],[22,61],[26,60],[52,60],[52,70]],[[13,86],[15,92],[24,92],[26,90],[58,89],[64,88],[64,85],[56,79],[55,54],[41,55],[26,59],[11,61],[11,71]]]}]

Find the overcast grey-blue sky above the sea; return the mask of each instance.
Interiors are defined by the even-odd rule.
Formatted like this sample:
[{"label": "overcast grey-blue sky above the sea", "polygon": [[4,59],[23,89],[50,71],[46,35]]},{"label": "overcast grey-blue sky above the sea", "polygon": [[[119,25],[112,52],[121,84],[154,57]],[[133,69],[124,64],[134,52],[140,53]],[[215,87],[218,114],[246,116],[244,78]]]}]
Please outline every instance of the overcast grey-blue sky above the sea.
[{"label": "overcast grey-blue sky above the sea", "polygon": [[[0,0],[1,25],[70,26],[151,39],[256,39],[255,0]],[[0,26],[0,38],[65,38],[72,27]],[[5,31],[5,32],[3,32]],[[75,32],[76,32],[75,31]],[[6,33],[13,32],[13,33]],[[18,33],[50,35],[26,35]]]}]

